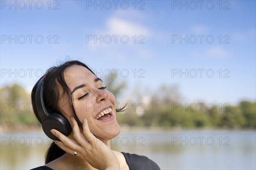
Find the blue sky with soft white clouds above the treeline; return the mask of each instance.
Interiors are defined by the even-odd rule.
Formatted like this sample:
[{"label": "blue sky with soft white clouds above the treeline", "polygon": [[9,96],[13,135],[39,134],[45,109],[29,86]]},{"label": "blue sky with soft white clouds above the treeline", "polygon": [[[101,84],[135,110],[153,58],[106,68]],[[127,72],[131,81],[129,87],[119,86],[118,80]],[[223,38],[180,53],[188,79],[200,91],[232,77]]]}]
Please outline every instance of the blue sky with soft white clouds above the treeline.
[{"label": "blue sky with soft white clouds above the treeline", "polygon": [[9,2],[1,0],[1,87],[30,91],[41,71],[70,56],[102,78],[119,69],[124,98],[138,85],[143,96],[177,85],[183,102],[256,100],[254,0]]}]

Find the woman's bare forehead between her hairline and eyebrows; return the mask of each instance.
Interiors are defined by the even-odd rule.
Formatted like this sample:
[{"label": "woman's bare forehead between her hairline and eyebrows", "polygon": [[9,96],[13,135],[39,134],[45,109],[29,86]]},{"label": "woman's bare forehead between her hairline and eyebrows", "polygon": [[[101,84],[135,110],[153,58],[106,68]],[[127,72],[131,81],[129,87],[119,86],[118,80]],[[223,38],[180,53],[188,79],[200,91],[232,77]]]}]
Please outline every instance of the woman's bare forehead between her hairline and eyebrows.
[{"label": "woman's bare forehead between her hairline and eyebrows", "polygon": [[97,77],[81,65],[72,65],[64,71],[64,79],[68,86],[94,82]]}]

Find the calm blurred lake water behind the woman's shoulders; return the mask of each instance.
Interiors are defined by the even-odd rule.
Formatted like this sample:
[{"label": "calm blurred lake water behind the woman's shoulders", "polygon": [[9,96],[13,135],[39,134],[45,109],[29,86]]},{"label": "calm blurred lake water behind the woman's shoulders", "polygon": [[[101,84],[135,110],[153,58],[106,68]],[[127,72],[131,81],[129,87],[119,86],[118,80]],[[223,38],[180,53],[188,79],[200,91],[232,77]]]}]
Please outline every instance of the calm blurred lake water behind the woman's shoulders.
[{"label": "calm blurred lake water behind the woman's shoulders", "polygon": [[[0,169],[44,165],[50,141],[42,132],[1,132]],[[255,170],[255,130],[122,130],[113,150],[144,155],[162,170]]]}]

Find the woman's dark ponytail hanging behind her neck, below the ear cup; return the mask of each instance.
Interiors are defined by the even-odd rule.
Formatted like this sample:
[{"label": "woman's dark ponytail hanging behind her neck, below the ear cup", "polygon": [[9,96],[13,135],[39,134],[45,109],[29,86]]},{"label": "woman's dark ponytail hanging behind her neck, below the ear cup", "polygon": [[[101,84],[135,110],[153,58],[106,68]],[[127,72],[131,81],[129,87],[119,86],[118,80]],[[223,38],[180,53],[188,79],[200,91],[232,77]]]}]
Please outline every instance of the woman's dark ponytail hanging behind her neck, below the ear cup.
[{"label": "woman's dark ponytail hanging behind her neck, below the ear cup", "polygon": [[45,164],[63,156],[66,152],[52,142],[51,146],[45,154]]}]

